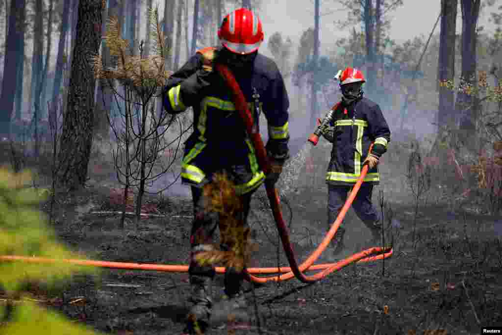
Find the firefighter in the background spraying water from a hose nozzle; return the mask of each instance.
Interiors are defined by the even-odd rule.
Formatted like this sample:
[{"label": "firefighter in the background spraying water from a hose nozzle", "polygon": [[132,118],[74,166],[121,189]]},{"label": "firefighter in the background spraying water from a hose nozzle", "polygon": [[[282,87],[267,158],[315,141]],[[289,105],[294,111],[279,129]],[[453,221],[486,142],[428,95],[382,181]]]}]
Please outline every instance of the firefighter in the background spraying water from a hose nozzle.
[{"label": "firefighter in the background spraying water from a hose nozzle", "polygon": [[[322,134],[333,143],[331,159],[326,174],[328,184],[328,227],[331,227],[343,207],[361,173],[364,164],[368,171],[352,203],[357,216],[370,230],[372,243],[379,244],[382,222],[378,211],[371,202],[374,185],[380,182],[377,169],[380,157],[387,151],[391,132],[380,106],[363,97],[362,84],[365,82],[362,72],[347,67],[335,76],[339,80],[342,99],[333,107],[334,114],[328,129]],[[318,120],[320,123],[320,120]],[[373,143],[371,152],[369,147]],[[339,254],[343,248],[345,229],[338,228],[332,242],[333,254]]]}]

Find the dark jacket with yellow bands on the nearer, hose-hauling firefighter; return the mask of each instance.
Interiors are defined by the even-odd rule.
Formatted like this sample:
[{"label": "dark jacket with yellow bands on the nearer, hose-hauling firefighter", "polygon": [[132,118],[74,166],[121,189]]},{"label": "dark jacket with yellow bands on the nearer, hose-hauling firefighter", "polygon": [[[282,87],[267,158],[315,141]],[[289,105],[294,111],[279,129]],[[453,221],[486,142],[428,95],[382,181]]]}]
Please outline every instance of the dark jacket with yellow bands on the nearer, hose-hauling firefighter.
[{"label": "dark jacket with yellow bands on the nearer, hose-hauling firefighter", "polygon": [[[265,175],[228,86],[216,70],[207,66],[208,58],[216,52],[214,48],[199,50],[167,80],[163,106],[169,114],[193,107],[193,133],[185,143],[182,182],[202,187],[214,172],[224,170],[236,184],[236,192],[244,194],[260,186]],[[234,76],[251,111],[255,110],[253,88],[257,90],[259,108],[268,124],[267,152],[284,163],[289,158],[289,99],[277,65],[257,54],[248,72],[234,72]]]}]

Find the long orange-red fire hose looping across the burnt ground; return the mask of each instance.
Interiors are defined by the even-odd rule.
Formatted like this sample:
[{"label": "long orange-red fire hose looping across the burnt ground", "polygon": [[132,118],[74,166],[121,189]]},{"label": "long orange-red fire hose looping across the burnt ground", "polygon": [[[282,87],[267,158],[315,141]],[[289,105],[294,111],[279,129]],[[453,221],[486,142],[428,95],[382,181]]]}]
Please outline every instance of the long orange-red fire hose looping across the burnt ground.
[{"label": "long orange-red fire hose looping across the burnt ground", "polygon": [[[263,145],[260,134],[256,131],[253,131],[253,118],[251,116],[249,109],[247,108],[247,103],[244,99],[244,95],[242,94],[240,87],[235,81],[233,74],[226,66],[222,64],[216,64],[216,69],[223,76],[223,78],[230,86],[230,89],[234,94],[235,107],[239,111],[240,116],[242,117],[242,120],[245,124],[247,133],[250,136],[251,140],[253,141],[255,147],[255,153],[259,161],[259,164],[262,170],[267,174],[271,171],[270,162],[268,160],[267,152],[265,150],[265,146]],[[281,237],[286,257],[291,267],[248,268],[247,269],[248,279],[257,283],[266,283],[269,281],[282,281],[296,277],[304,283],[313,283],[324,278],[325,276],[334,271],[340,270],[341,268],[351,263],[370,262],[392,256],[393,254],[392,248],[374,247],[358,252],[336,263],[313,265],[314,262],[322,254],[322,252],[327,248],[329,242],[331,241],[336,231],[340,227],[341,222],[345,217],[345,214],[347,213],[347,210],[349,209],[350,205],[352,204],[352,201],[354,200],[357,192],[359,191],[359,188],[362,184],[362,181],[367,171],[368,167],[367,165],[364,165],[361,170],[359,179],[352,188],[352,192],[350,192],[349,197],[345,201],[345,204],[343,205],[340,213],[338,214],[338,217],[333,222],[328,234],[325,236],[325,238],[323,239],[321,244],[317,247],[317,249],[309,256],[309,258],[307,258],[307,260],[305,260],[300,265],[298,265],[296,262],[295,253],[289,240],[289,234],[286,227],[286,223],[284,222],[282,216],[279,194],[277,193],[277,190],[273,184],[266,183],[265,187],[267,190],[267,196],[271,203],[274,218],[276,220],[277,229]],[[75,265],[102,267],[110,269],[149,270],[149,271],[162,271],[162,272],[188,272],[188,265],[138,264],[138,263],[106,262],[106,261],[75,260],[75,259],[49,259],[42,257],[24,257],[24,256],[0,256],[0,260],[23,261],[30,263],[45,263],[45,264],[65,262]],[[320,272],[311,276],[306,276],[303,274],[303,272],[305,271],[320,271]],[[216,267],[216,272],[223,273],[225,272],[225,268]],[[257,277],[252,275],[252,274],[271,274],[271,273],[283,273],[283,274],[270,277]]]}]

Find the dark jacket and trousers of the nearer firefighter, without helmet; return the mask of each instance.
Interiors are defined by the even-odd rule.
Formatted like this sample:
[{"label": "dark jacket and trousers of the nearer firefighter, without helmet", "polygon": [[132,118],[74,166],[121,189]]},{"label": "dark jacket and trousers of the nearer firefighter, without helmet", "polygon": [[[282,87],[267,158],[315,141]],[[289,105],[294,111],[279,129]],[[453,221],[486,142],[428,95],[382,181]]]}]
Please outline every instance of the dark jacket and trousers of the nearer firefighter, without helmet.
[{"label": "dark jacket and trousers of the nearer firefighter, without helmet", "polygon": [[[168,79],[163,91],[167,113],[181,113],[189,106],[194,111],[193,133],[185,144],[181,177],[184,184],[192,186],[194,204],[189,268],[192,301],[209,307],[207,286],[215,271],[212,266],[200,266],[194,256],[212,249],[210,242],[218,226],[218,215],[205,210],[202,187],[212,181],[215,172],[224,171],[236,185],[236,193],[243,205],[240,220],[245,226],[251,195],[265,180],[244,124],[235,110],[231,92],[220,75],[206,66],[208,59],[218,61],[218,52],[214,48],[197,52]],[[289,99],[277,65],[268,57],[257,54],[247,71],[234,71],[234,76],[250,110],[254,110],[253,88],[260,95],[260,110],[267,119],[269,130],[267,152],[272,159],[284,163],[289,157]],[[238,293],[242,278],[242,273],[227,269],[227,295]]]}]

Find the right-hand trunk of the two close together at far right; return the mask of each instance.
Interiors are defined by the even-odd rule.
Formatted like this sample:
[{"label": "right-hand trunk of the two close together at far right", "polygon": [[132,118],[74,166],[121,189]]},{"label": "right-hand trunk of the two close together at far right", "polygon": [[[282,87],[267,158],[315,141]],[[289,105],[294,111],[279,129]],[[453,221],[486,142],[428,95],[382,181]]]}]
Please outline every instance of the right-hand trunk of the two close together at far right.
[{"label": "right-hand trunk of the two close together at far right", "polygon": [[[477,21],[479,18],[479,6],[481,0],[461,0],[462,9],[462,78],[465,82],[477,86],[476,83],[476,45],[477,45]],[[460,110],[460,131],[472,136],[476,131],[476,122],[479,110],[476,107],[476,96],[459,92],[457,95],[457,110]],[[465,143],[473,144],[467,140]]]}]

